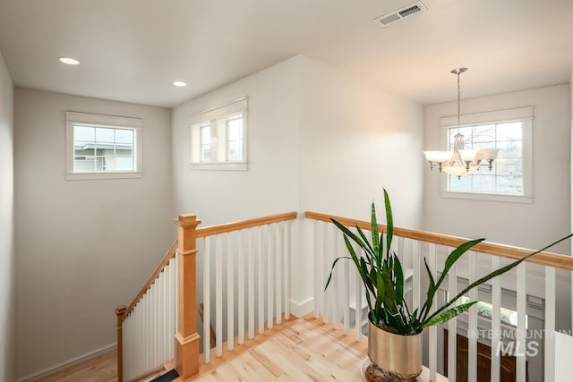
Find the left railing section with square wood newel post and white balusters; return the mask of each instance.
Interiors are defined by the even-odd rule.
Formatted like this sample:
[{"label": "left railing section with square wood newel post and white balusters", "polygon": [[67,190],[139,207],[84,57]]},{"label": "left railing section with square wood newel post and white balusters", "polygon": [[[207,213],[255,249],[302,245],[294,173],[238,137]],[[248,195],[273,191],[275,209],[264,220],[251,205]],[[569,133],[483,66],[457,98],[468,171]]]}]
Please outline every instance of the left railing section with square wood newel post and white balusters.
[{"label": "left railing section with square wood newel post and white balusters", "polygon": [[[198,278],[203,289],[203,330],[210,333],[212,311],[217,357],[223,353],[224,338],[231,350],[235,337],[239,345],[244,343],[245,332],[249,338],[253,337],[256,321],[259,333],[264,333],[265,318],[269,328],[273,322],[280,323],[283,316],[288,319],[289,222],[295,218],[296,213],[291,212],[197,228],[201,221],[196,216],[178,216],[175,219],[177,240],[129,307],[120,305],[115,309],[118,381],[150,377],[174,359],[175,369],[184,380],[198,373],[202,361],[210,362],[210,341],[203,341],[200,358]],[[197,268],[198,258],[201,269]],[[210,293],[211,273],[215,278],[214,295]],[[237,293],[237,301],[235,277],[237,288],[245,292]],[[224,279],[227,284],[225,309]],[[257,317],[255,298],[259,307]],[[227,310],[226,333],[223,333],[224,310]]]}]

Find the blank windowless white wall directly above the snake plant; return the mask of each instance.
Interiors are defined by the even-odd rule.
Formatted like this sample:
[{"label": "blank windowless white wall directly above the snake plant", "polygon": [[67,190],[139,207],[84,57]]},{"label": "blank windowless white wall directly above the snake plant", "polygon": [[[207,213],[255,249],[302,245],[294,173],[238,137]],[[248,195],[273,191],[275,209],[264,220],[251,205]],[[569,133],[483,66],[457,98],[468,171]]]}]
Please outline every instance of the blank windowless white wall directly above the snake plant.
[{"label": "blank windowless white wall directly above the snake plant", "polygon": [[[397,226],[422,227],[423,108],[300,57],[300,211],[370,220],[372,200],[384,223],[382,189]],[[312,246],[302,233],[297,264]],[[342,253],[340,253],[342,255]],[[312,267],[299,267],[293,296],[312,297]],[[306,294],[305,294],[306,293]]]}]

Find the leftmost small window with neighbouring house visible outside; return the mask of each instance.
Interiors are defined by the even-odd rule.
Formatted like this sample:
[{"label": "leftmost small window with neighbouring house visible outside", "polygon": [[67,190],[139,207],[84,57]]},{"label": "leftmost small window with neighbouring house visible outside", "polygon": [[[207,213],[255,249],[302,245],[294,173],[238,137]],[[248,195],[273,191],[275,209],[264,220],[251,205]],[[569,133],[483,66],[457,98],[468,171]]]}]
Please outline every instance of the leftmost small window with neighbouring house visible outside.
[{"label": "leftmost small window with neighbouring house visible outside", "polygon": [[141,119],[66,112],[67,180],[141,177]]}]

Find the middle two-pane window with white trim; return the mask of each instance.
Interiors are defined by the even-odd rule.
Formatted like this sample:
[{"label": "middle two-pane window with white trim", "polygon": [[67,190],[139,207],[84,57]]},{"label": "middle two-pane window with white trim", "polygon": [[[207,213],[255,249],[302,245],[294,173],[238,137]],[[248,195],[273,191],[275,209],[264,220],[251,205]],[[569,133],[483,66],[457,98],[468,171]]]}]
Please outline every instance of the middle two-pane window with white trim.
[{"label": "middle two-pane window with white trim", "polygon": [[192,116],[192,169],[247,169],[246,111],[245,97]]}]

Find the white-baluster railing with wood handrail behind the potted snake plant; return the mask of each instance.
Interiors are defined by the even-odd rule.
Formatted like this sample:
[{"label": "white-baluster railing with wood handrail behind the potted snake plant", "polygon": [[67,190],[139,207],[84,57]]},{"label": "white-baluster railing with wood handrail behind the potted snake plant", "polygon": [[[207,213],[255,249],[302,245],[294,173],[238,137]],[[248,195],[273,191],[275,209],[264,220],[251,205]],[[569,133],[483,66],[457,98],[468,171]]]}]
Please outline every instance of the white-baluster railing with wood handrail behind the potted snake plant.
[{"label": "white-baluster railing with wood handrail behind the potted snake plant", "polygon": [[[335,275],[329,289],[325,291],[324,285],[329,276],[332,261],[339,256],[346,256],[346,246],[342,240],[342,234],[331,223],[330,218],[335,218],[351,229],[358,225],[365,231],[370,230],[370,223],[316,212],[306,212],[305,217],[313,220],[311,237],[314,248],[314,269],[317,275],[314,284],[314,316],[316,318],[322,316],[324,323],[331,322],[333,327],[338,328],[339,325],[342,325],[346,334],[349,333],[351,327],[355,328],[356,340],[360,340],[363,324],[367,322],[368,318],[366,317],[366,302],[363,299],[363,285],[357,272],[355,272],[354,265],[350,264],[349,261],[341,261],[335,269]],[[379,225],[379,230],[385,231],[386,226]],[[394,227],[394,237],[393,249],[397,252],[405,269],[405,290],[408,290],[406,301],[409,302],[410,310],[414,311],[420,306],[421,301],[425,300],[423,291],[425,291],[427,280],[425,280],[423,258],[427,259],[432,276],[437,279],[447,254],[459,244],[466,242],[467,239],[399,227]],[[356,250],[358,249],[356,248]],[[441,298],[457,295],[467,283],[472,283],[493,269],[503,267],[514,259],[521,259],[531,252],[533,250],[491,242],[481,242],[475,245],[472,251],[466,253],[449,270],[447,282],[442,284]],[[492,382],[500,382],[500,355],[508,350],[516,356],[515,380],[517,382],[527,380],[527,373],[530,375],[533,373],[533,363],[536,360],[540,362],[537,367],[538,375],[536,377],[531,376],[529,380],[545,380],[547,382],[555,380],[555,369],[552,364],[555,359],[555,337],[553,333],[556,330],[559,331],[559,328],[556,328],[556,290],[559,290],[559,283],[561,283],[561,288],[563,284],[568,283],[570,287],[569,276],[571,271],[573,271],[572,257],[542,252],[527,259],[508,274],[492,279],[483,290],[476,288],[470,291],[468,298],[471,301],[490,300],[492,303],[491,319],[478,316],[474,306],[468,313],[458,316],[457,319],[451,319],[441,326],[447,328],[449,334],[457,333],[458,328],[466,330],[468,337],[468,358],[466,360],[468,381],[475,382],[477,380],[478,337],[480,340],[487,340],[491,346]],[[506,326],[500,322],[500,308],[502,297],[507,297],[509,290],[513,293],[512,301],[509,303],[514,304],[512,308],[517,311],[517,323]],[[532,306],[535,308],[535,305],[538,305],[541,311],[540,320],[543,322],[543,327],[534,332],[535,338],[531,339],[532,325],[529,322],[529,327],[526,327],[526,316],[532,310]],[[433,309],[436,306],[437,302],[434,301]],[[487,325],[491,325],[491,327],[483,330],[478,325],[478,321],[482,323],[488,321]],[[561,329],[567,330],[568,328],[562,327]],[[508,338],[502,338],[502,335],[508,331],[514,335],[513,339],[509,339],[513,343],[508,343]],[[443,330],[439,331],[438,327],[429,327],[427,332],[429,344],[425,350],[427,360],[425,366],[430,371],[430,379],[436,380],[438,372],[448,369],[456,370],[457,368],[457,336],[448,335],[440,339]],[[539,334],[543,334],[543,337],[538,338]],[[482,338],[480,335],[490,336],[490,338]],[[444,352],[441,341],[447,343],[447,357],[440,355]],[[506,342],[504,343],[504,341]],[[533,356],[534,351],[540,354],[536,360]],[[443,363],[439,362],[440,358],[444,359]],[[446,359],[447,361],[445,361]],[[541,364],[541,360],[544,364]],[[456,372],[450,372],[448,377],[449,382],[455,382]]]}]

